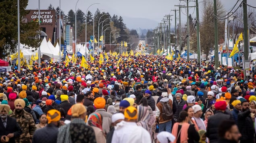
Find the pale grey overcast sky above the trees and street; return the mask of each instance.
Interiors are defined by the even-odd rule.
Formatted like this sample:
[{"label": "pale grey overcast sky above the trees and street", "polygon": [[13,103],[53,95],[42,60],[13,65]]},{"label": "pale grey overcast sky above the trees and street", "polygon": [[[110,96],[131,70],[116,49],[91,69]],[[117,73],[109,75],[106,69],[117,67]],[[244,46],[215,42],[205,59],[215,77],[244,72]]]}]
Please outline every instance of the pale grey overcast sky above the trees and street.
[{"label": "pale grey overcast sky above the trees and street", "polygon": [[[39,0],[29,0],[27,9],[35,10],[38,9],[38,1]],[[69,10],[73,9],[75,11],[75,4],[77,0],[60,0],[61,5],[60,8],[68,14]],[[192,1],[192,0],[191,0]],[[199,1],[199,8],[202,7],[202,1]],[[201,3],[200,3],[201,2]],[[237,2],[237,0],[221,0],[225,9],[229,11]],[[174,11],[171,10],[179,10],[178,6],[174,5],[186,5],[186,2],[179,0],[79,0],[77,3],[77,9],[81,9],[84,13],[87,10],[88,6],[93,3],[94,4],[89,8],[89,10],[94,13],[96,9],[104,10],[105,12],[109,12],[112,16],[116,14],[118,16],[122,16],[124,19],[124,23],[127,28],[152,28],[154,29],[158,26],[158,23],[164,18],[165,15],[171,14],[173,15],[172,27],[174,26]],[[241,3],[241,0],[238,4]],[[256,7],[256,0],[247,0],[247,3]],[[41,0],[40,1],[40,9],[46,10],[48,6],[52,4],[54,8],[59,6],[59,0]],[[195,2],[189,2],[189,6],[195,6]],[[242,8],[242,7],[241,7]],[[183,8],[181,13],[182,22],[187,21],[187,17],[185,15],[186,10]],[[189,13],[192,14],[192,17],[196,17],[196,9],[190,8]],[[177,12],[177,16],[179,13]],[[178,22],[177,22],[178,23]]]}]

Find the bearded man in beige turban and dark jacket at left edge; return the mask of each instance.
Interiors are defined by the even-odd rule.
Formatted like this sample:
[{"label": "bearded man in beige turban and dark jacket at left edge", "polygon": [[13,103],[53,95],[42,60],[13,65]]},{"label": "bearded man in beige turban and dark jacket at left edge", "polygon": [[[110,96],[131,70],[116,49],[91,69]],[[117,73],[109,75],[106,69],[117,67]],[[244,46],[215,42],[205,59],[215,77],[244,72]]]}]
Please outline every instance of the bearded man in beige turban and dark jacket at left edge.
[{"label": "bearded man in beige turban and dark jacket at left edge", "polygon": [[[21,128],[16,119],[8,116],[9,111],[9,105],[0,105],[0,125],[3,126],[0,128],[1,143],[15,143],[15,138],[21,135]],[[8,138],[9,141],[6,141]]]}]

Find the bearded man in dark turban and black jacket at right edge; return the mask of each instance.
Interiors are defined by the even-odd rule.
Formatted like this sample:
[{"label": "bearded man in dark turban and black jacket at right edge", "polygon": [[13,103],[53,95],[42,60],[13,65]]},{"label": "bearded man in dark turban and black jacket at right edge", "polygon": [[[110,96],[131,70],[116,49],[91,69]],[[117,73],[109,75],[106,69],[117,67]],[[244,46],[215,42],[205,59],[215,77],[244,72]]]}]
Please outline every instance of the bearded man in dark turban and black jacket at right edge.
[{"label": "bearded man in dark turban and black jacket at right edge", "polygon": [[238,129],[241,133],[240,143],[254,143],[254,121],[250,113],[256,113],[256,109],[250,109],[248,101],[243,101],[242,112],[238,113]]}]

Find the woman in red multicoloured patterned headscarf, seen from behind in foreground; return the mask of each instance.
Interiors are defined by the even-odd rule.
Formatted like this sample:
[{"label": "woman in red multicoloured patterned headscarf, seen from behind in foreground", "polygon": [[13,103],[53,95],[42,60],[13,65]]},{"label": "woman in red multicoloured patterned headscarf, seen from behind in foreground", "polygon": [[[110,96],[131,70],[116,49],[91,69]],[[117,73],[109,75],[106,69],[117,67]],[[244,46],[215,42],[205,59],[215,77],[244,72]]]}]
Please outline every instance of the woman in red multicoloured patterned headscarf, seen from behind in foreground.
[{"label": "woman in red multicoloured patterned headscarf, seen from behind in foreground", "polygon": [[87,124],[94,129],[97,143],[106,143],[106,137],[102,131],[102,116],[100,113],[92,113]]}]

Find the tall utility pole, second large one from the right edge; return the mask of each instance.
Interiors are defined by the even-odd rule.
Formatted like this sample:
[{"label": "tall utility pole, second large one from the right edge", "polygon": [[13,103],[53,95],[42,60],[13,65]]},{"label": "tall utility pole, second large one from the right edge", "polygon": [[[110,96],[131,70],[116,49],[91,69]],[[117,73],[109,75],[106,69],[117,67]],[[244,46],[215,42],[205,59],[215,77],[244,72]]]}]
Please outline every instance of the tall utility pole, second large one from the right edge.
[{"label": "tall utility pole, second large one from the right edge", "polygon": [[216,0],[213,0],[213,1],[214,1],[214,40],[215,40],[214,60],[215,60],[215,67],[219,67],[217,4],[216,4]]}]

